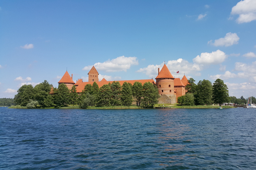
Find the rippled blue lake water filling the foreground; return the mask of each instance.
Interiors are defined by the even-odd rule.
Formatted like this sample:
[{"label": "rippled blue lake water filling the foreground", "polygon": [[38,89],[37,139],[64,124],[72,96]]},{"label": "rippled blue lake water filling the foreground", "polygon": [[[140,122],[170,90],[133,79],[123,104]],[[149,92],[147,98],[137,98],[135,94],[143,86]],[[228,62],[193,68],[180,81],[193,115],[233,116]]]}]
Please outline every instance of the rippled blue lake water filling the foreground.
[{"label": "rippled blue lake water filling the foreground", "polygon": [[256,109],[0,108],[0,169],[256,169]]}]

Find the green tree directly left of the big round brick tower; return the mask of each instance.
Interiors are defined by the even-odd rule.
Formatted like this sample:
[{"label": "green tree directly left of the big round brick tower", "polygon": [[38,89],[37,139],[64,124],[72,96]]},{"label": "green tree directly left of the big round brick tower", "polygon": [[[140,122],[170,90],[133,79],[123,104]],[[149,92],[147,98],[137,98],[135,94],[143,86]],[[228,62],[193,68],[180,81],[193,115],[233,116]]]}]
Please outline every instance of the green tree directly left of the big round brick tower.
[{"label": "green tree directly left of the big round brick tower", "polygon": [[146,82],[143,84],[143,99],[142,104],[147,108],[153,108],[154,104],[158,103],[158,98],[160,97],[158,93],[158,88],[156,85]]}]

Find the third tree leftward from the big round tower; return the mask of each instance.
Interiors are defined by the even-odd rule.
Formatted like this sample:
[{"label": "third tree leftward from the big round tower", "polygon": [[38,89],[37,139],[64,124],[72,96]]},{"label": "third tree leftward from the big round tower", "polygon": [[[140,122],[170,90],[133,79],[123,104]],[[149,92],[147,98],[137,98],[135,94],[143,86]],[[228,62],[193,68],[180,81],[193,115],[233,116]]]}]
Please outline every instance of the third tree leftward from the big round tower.
[{"label": "third tree leftward from the big round tower", "polygon": [[121,103],[123,106],[130,106],[132,104],[132,84],[124,82],[121,91]]}]

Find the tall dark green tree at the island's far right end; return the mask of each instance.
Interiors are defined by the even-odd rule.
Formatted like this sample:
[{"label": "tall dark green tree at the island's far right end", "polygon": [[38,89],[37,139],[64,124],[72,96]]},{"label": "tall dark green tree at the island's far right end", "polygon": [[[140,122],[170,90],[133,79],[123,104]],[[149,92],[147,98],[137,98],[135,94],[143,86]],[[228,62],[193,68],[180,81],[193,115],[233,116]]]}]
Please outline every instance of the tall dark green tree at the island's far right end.
[{"label": "tall dark green tree at the island's far right end", "polygon": [[230,101],[228,87],[224,84],[224,81],[219,78],[213,83],[213,100],[215,103],[218,103],[219,106],[221,106],[222,103],[228,103]]}]

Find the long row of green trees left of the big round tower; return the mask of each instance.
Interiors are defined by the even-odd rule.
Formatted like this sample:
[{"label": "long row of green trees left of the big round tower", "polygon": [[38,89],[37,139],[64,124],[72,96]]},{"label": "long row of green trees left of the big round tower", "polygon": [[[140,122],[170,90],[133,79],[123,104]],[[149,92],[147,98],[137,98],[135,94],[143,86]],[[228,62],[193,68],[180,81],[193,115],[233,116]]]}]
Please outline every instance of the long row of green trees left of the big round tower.
[{"label": "long row of green trees left of the big round tower", "polygon": [[36,85],[23,85],[18,89],[14,102],[27,108],[59,108],[68,105],[79,105],[80,108],[88,106],[130,106],[136,102],[137,106],[152,108],[158,103],[160,97],[157,87],[146,82],[124,82],[121,86],[118,81],[113,81],[99,88],[94,82],[86,84],[82,93],[76,92],[75,85],[68,89],[65,84],[53,88],[48,81]]}]

